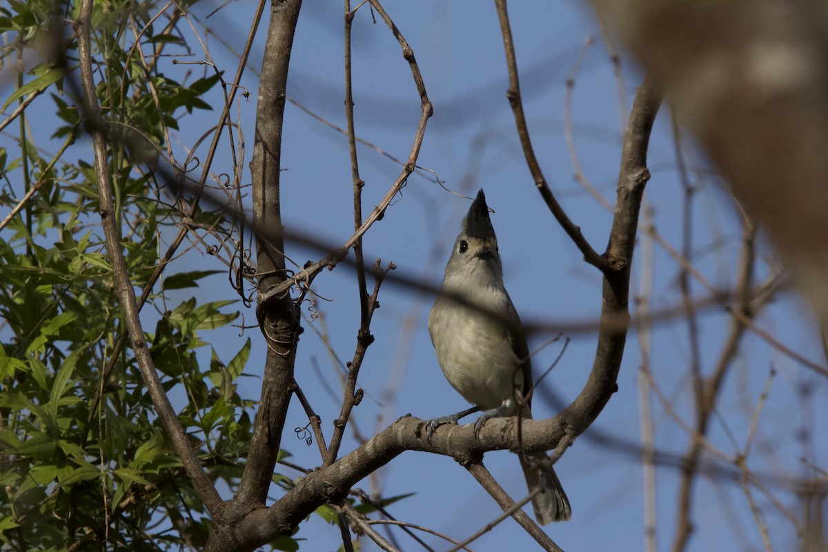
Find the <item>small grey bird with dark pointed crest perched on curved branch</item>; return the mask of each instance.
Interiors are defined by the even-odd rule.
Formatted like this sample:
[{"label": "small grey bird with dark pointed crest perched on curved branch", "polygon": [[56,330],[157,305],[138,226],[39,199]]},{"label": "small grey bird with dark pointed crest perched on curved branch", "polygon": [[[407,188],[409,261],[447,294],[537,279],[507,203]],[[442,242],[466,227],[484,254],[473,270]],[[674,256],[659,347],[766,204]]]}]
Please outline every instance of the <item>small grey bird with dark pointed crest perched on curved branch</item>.
[{"label": "small grey bird with dark pointed crest perched on curved branch", "polygon": [[[446,294],[437,297],[431,308],[428,331],[445,379],[466,401],[484,410],[474,424],[477,435],[489,418],[517,415],[517,399],[532,388],[529,348],[517,310],[503,286],[498,240],[483,190],[460,225],[442,289]],[[429,421],[428,438],[440,425],[456,424],[466,413],[468,410]],[[524,419],[532,418],[528,401],[520,414]],[[569,499],[546,454],[526,453],[520,460],[529,491],[542,489],[532,500],[538,523],[568,520],[572,515]]]}]

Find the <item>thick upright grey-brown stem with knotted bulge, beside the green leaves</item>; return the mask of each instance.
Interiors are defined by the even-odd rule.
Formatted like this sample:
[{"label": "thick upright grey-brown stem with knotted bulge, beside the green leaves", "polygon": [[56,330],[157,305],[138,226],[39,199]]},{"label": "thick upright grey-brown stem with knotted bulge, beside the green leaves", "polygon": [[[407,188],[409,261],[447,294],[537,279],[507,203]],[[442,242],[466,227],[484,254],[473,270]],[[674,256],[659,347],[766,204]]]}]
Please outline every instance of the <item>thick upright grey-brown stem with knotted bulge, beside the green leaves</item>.
[{"label": "thick upright grey-brown stem with knotted bulge, beside the green leaves", "polygon": [[[254,231],[256,228],[282,228],[279,195],[282,122],[287,70],[300,8],[301,0],[271,4],[251,162]],[[286,281],[283,251],[281,233],[268,233],[267,236],[256,233],[260,294]],[[287,406],[291,401],[296,341],[300,332],[298,308],[286,291],[271,295],[269,300],[261,300],[260,295],[257,315],[267,342],[267,358],[248,461],[244,465],[238,493],[233,499],[234,504],[241,506],[241,511],[262,506],[267,497],[282,441]]]}]

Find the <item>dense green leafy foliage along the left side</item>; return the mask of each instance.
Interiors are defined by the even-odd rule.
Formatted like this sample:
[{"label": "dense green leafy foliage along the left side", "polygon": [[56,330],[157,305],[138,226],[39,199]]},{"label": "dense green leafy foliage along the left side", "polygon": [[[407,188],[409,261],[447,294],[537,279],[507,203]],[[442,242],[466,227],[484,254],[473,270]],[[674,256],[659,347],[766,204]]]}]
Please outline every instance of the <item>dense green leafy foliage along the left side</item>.
[{"label": "dense green leafy foliage along the left side", "polygon": [[[181,214],[171,207],[175,199],[161,192],[165,183],[138,166],[135,155],[147,160],[166,151],[169,132],[182,116],[211,108],[205,94],[219,84],[218,74],[164,74],[157,57],[137,54],[133,26],[142,30],[142,49],[154,55],[186,46],[171,25],[173,10],[151,22],[162,6],[94,3],[98,101],[112,125],[108,162],[116,218],[138,295],[161,260],[163,237],[180,228]],[[78,10],[79,2],[51,0],[0,5],[0,32],[7,37],[0,64],[13,66],[18,55],[32,59],[37,48],[55,47],[49,43],[54,36],[64,37],[56,45],[61,55],[28,65],[17,88],[0,98],[6,116],[39,94],[20,115],[20,128],[33,109],[48,109],[54,127],[46,136],[58,141],[36,144],[36,135],[26,134],[17,147],[0,148],[0,212],[36,187],[0,233],[0,550],[102,550],[103,543],[103,550],[199,548],[209,531],[204,506],[161,429],[131,343],[119,344],[125,322],[100,226],[92,151],[84,146],[65,153],[82,132],[79,100],[65,94],[70,79],[79,82],[78,54],[71,28],[55,33],[53,26]],[[214,228],[225,224],[202,212],[192,218]],[[212,258],[206,258],[209,266]],[[166,266],[142,320],[154,329],[146,336],[152,358],[164,388],[177,397],[181,423],[209,478],[233,489],[255,406],[236,386],[251,342],[239,339],[238,352],[223,353],[226,365],[214,350],[210,359],[205,333],[229,329],[238,307],[215,296],[232,297],[229,286],[207,303],[181,295],[219,273],[191,269]],[[291,542],[286,536],[283,545]]]}]

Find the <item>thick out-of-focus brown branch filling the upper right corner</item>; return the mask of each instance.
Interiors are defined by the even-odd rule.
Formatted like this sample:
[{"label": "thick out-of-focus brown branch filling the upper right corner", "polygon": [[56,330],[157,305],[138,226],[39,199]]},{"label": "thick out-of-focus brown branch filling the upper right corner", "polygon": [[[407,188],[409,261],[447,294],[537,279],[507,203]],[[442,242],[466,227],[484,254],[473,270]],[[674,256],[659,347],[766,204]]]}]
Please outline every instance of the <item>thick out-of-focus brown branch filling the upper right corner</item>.
[{"label": "thick out-of-focus brown branch filling the upper right corner", "polygon": [[828,4],[592,3],[767,228],[828,331]]}]

